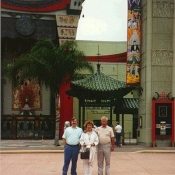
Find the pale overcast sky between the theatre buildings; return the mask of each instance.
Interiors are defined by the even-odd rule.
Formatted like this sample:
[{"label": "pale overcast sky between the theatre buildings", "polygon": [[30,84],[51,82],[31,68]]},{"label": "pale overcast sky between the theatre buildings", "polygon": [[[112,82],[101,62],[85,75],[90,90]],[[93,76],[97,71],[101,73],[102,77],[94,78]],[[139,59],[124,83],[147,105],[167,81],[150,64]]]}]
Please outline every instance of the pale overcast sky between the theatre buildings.
[{"label": "pale overcast sky between the theatre buildings", "polygon": [[76,40],[126,41],[127,0],[85,0]]}]

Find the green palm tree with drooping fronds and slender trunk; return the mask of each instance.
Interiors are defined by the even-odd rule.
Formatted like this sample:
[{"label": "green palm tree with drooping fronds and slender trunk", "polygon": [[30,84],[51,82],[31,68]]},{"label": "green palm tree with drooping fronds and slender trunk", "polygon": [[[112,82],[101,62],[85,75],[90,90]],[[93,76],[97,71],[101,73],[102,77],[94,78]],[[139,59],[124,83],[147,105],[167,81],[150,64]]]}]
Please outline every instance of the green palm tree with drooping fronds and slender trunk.
[{"label": "green palm tree with drooping fronds and slender trunk", "polygon": [[[4,64],[3,68],[4,73],[12,80],[20,72],[21,79],[37,78],[50,88],[50,113],[55,117],[55,99],[62,83],[75,79],[83,69],[93,73],[92,65],[78,49],[76,41],[66,41],[63,45],[56,46],[48,39],[39,40],[29,53],[21,55],[14,63]],[[55,145],[59,145],[58,134],[55,134]]]}]

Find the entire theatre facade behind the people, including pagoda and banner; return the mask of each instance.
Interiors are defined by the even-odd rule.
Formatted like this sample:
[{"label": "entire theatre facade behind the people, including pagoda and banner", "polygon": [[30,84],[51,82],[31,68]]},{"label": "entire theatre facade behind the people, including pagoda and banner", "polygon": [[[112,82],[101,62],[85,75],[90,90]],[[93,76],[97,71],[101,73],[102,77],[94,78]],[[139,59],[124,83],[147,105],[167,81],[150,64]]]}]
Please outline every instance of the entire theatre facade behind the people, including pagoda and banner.
[{"label": "entire theatre facade behind the people, including pagoda and banner", "polygon": [[[56,116],[46,87],[2,75],[2,139],[61,138],[71,117],[83,127],[85,120],[100,125],[105,115],[109,125],[123,126],[125,144],[174,146],[175,0],[135,2],[128,0],[126,42],[77,41],[95,72],[61,87]],[[83,1],[40,3],[1,1],[1,61],[15,61],[42,38],[55,44],[76,39]]]}]

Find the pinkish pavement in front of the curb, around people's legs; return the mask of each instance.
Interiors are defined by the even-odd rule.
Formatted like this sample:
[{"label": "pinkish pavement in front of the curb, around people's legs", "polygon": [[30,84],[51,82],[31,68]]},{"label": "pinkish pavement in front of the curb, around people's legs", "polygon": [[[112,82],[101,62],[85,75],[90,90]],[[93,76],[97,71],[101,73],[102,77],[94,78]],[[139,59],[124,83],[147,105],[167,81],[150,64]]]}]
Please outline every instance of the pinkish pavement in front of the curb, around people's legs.
[{"label": "pinkish pavement in front of the curb, around people's legs", "polygon": [[[1,175],[61,175],[63,153],[1,154]],[[81,159],[77,174],[83,175]],[[95,159],[93,174],[97,175]],[[112,152],[111,175],[175,175],[175,153]],[[70,175],[70,170],[68,175]]]}]

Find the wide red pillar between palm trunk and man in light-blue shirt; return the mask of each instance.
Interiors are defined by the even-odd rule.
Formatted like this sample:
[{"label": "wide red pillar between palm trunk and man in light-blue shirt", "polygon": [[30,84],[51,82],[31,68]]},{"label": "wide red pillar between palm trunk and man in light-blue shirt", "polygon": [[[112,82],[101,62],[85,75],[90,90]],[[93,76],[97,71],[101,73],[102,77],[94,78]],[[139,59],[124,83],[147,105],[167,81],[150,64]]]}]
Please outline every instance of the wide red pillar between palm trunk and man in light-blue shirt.
[{"label": "wide red pillar between palm trunk and man in light-blue shirt", "polygon": [[65,121],[71,121],[73,117],[73,97],[66,94],[66,90],[70,89],[69,83],[64,83],[60,88],[60,129],[59,138],[62,138]]}]

